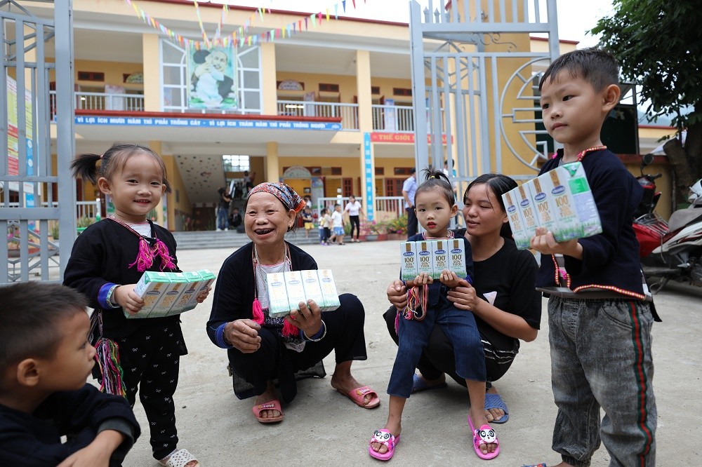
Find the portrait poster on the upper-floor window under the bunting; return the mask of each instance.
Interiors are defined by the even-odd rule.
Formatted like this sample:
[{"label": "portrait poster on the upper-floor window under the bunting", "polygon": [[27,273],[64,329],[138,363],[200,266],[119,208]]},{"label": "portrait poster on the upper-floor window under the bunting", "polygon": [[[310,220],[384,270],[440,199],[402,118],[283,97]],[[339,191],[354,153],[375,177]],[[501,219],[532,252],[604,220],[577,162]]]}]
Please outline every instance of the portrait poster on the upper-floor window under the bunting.
[{"label": "portrait poster on the upper-floor window under the bunting", "polygon": [[190,46],[187,58],[188,107],[216,110],[239,107],[234,48]]}]

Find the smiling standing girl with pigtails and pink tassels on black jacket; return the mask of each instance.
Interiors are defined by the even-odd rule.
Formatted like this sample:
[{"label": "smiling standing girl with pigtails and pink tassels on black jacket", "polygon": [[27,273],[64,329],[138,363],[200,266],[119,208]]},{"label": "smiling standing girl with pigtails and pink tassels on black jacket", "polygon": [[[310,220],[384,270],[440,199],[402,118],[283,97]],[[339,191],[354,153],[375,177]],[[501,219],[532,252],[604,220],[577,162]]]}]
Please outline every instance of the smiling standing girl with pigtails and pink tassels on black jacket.
[{"label": "smiling standing girl with pigtails and pink tassels on black jacket", "polygon": [[[179,316],[138,317],[144,301],[134,287],[145,271],[180,272],[171,232],[147,219],[170,192],[166,166],[158,154],[137,144],[115,143],[105,154],[81,154],[71,168],[114,204],[114,215],[78,236],[64,284],[88,298],[91,342],[98,350],[99,374],[107,393],[124,395],[133,406],[139,389],[154,458],[163,466],[198,467],[187,449],[177,449],[173,393],[180,356],[187,353]],[[208,291],[201,292],[203,302]]]}]

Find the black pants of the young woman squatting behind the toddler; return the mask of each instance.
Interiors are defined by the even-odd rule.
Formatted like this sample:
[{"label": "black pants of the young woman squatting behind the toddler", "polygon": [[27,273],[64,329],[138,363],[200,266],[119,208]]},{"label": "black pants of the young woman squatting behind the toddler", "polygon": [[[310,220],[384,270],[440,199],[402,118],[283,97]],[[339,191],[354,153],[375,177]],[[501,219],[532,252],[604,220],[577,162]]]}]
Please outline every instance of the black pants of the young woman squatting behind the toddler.
[{"label": "black pants of the young woman squatting behind the toddler", "polygon": [[[390,333],[392,340],[395,341],[395,344],[397,344],[397,333],[395,332],[396,312],[397,309],[395,309],[395,306],[390,306],[390,309],[383,313],[385,325],[388,326],[388,332]],[[485,341],[482,333],[481,338],[484,346],[491,345],[489,342]],[[498,363],[496,360],[494,360],[494,358],[486,358],[486,387],[491,387],[491,381],[496,381],[503,377],[503,375],[512,365],[512,361],[514,360],[510,360],[508,362],[502,361]],[[453,354],[453,346],[451,346],[451,341],[449,341],[449,338],[446,337],[446,334],[444,334],[444,331],[440,325],[435,325],[434,329],[429,335],[429,344],[426,346],[422,352],[422,356],[419,358],[417,370],[419,370],[425,379],[429,380],[439,379],[442,373],[446,373],[453,378],[456,383],[461,384],[461,386],[465,386],[465,379],[456,374],[456,358]]]}]

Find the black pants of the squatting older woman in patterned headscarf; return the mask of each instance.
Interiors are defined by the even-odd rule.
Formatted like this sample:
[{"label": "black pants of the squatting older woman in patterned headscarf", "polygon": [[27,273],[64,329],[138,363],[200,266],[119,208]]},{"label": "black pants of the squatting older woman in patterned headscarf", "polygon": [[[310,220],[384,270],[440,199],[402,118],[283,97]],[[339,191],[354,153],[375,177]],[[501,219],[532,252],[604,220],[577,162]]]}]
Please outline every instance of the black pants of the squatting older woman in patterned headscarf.
[{"label": "black pants of the squatting older woman in patterned headscarf", "polygon": [[307,370],[328,356],[336,353],[336,363],[366,360],[366,339],[363,325],[365,312],[360,300],[351,294],[339,296],[341,306],[334,311],[322,312],[326,336],[318,342],[307,342],[302,352],[286,348],[278,331],[262,327],[258,331],[261,346],[253,353],[230,349],[229,362],[234,373],[253,385],[253,395],[263,394],[268,381],[277,379],[283,399],[293,400],[297,394],[294,374]]}]

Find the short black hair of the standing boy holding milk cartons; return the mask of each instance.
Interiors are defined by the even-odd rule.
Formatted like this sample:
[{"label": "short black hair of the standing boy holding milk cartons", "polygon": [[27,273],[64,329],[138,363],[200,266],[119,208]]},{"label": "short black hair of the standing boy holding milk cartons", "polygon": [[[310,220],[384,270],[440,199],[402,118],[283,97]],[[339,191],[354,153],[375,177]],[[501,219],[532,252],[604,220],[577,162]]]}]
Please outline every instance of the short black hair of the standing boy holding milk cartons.
[{"label": "short black hair of the standing boy holding milk cartons", "polygon": [[618,60],[607,50],[590,47],[564,53],[554,60],[541,76],[538,90],[547,79],[550,83],[563,71],[569,72],[573,78],[588,81],[598,92],[610,84],[619,84]]}]

